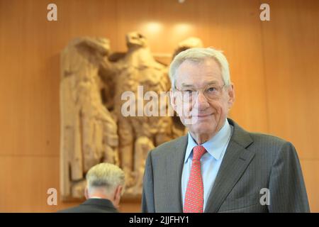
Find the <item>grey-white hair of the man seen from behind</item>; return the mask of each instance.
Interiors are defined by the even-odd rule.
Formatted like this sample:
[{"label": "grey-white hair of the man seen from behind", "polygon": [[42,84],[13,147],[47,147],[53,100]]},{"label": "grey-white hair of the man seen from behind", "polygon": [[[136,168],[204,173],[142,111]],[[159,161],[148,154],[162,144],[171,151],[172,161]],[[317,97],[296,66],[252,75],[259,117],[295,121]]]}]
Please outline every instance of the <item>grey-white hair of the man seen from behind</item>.
[{"label": "grey-white hair of the man seen from behind", "polygon": [[[125,186],[125,175],[120,167],[111,163],[94,165],[86,173],[89,193],[96,187],[103,187],[107,193],[113,193],[118,185]],[[124,190],[122,190],[123,192]]]}]

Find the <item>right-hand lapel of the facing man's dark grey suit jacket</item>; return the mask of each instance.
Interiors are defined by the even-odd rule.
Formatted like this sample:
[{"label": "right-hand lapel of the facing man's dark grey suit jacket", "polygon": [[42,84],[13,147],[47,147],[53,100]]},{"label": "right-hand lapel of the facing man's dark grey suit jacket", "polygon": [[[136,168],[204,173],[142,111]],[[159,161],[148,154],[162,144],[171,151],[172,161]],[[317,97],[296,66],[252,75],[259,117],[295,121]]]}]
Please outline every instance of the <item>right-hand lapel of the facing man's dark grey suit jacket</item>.
[{"label": "right-hand lapel of the facing man's dark grey suit jacket", "polygon": [[211,194],[208,197],[205,212],[217,212],[228,193],[245,172],[254,153],[246,150],[253,141],[249,133],[228,118],[233,128],[233,135],[220,165]]}]

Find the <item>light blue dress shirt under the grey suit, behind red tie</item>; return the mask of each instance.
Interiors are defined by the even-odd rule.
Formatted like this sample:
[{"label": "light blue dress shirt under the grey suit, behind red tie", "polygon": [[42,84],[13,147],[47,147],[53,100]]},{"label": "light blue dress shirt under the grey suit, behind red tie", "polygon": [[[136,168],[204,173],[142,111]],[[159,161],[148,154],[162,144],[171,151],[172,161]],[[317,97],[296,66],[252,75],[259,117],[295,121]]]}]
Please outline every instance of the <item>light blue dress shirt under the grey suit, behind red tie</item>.
[{"label": "light blue dress shirt under the grey suit, behind red tie", "polygon": [[[201,144],[207,152],[201,157],[201,175],[203,178],[203,210],[205,210],[207,199],[213,188],[220,164],[225,155],[226,148],[232,135],[233,126],[230,126],[228,120],[224,126],[210,140]],[[187,143],[183,172],[181,174],[181,196],[184,200],[186,194],[187,183],[189,182],[189,174],[191,172],[191,162],[193,160],[193,148],[198,145],[189,133]]]}]

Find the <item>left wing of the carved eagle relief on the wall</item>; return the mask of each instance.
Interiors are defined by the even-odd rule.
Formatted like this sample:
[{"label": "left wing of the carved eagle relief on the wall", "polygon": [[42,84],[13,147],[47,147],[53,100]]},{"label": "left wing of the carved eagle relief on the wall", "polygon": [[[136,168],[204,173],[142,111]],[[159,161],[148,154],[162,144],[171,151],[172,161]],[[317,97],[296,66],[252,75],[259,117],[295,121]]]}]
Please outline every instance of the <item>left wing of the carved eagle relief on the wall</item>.
[{"label": "left wing of the carved eagle relief on the wall", "polygon": [[[78,38],[62,52],[60,83],[62,195],[83,195],[84,173],[99,162],[118,164],[116,121],[101,101],[99,70],[106,39]],[[106,64],[104,64],[106,65]]]}]

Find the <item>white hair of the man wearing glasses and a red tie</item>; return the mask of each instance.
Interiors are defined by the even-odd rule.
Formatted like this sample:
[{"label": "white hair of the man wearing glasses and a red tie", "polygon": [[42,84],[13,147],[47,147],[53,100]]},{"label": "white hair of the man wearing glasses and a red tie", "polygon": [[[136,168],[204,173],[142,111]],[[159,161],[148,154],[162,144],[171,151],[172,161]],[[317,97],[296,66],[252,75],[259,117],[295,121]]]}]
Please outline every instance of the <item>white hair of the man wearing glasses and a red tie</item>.
[{"label": "white hair of the man wearing glasses and a red tie", "polygon": [[220,65],[223,82],[226,86],[230,85],[228,61],[225,55],[223,55],[222,51],[215,50],[213,48],[189,48],[176,55],[169,66],[169,78],[171,79],[173,89],[175,88],[175,74],[181,63],[183,63],[185,60],[202,62],[208,58],[213,58],[216,60],[216,62]]}]

